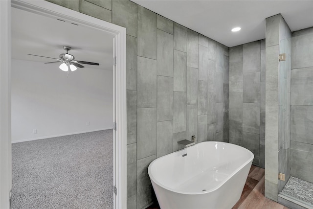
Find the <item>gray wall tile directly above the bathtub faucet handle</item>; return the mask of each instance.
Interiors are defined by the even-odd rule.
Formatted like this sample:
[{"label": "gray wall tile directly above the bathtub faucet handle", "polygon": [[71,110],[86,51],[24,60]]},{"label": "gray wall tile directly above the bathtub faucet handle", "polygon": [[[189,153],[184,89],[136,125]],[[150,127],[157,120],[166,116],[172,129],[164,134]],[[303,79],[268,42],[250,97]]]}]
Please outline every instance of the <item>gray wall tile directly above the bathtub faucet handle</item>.
[{"label": "gray wall tile directly above the bathtub faucet handle", "polygon": [[187,105],[186,109],[186,139],[191,140],[193,135],[198,137],[198,106]]}]

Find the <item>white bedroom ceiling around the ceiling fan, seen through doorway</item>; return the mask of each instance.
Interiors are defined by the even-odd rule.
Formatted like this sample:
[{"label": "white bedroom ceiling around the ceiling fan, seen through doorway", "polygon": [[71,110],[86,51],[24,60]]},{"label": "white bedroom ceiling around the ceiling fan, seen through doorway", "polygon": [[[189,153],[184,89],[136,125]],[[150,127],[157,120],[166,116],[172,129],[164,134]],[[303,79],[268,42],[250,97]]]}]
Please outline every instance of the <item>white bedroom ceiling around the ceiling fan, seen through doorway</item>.
[{"label": "white bedroom ceiling around the ceiling fan, seen through doorway", "polygon": [[[75,60],[99,63],[85,68],[112,70],[113,36],[105,32],[62,22],[42,15],[12,7],[12,58],[36,62],[57,60],[30,56],[59,58],[66,51],[63,46],[71,46],[68,52]],[[60,63],[55,65],[58,69]]]}]

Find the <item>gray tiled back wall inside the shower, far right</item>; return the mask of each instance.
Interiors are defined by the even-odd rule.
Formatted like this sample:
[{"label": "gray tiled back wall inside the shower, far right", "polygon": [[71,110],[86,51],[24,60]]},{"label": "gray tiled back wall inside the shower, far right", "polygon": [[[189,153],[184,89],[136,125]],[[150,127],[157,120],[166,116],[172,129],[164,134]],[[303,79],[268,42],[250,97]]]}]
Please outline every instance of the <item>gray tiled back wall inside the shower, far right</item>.
[{"label": "gray tiled back wall inside the shower, far right", "polygon": [[313,28],[291,39],[291,175],[313,183]]}]

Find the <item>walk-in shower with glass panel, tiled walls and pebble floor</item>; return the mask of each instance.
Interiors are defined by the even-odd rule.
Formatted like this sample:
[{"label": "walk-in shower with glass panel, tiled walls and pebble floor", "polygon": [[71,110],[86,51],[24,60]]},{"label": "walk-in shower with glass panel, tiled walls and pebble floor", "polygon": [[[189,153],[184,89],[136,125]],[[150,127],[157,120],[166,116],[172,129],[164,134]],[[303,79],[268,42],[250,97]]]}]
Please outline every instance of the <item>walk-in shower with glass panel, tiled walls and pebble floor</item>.
[{"label": "walk-in shower with glass panel, tiled walls and pebble floor", "polygon": [[313,28],[279,46],[278,202],[313,208]]}]

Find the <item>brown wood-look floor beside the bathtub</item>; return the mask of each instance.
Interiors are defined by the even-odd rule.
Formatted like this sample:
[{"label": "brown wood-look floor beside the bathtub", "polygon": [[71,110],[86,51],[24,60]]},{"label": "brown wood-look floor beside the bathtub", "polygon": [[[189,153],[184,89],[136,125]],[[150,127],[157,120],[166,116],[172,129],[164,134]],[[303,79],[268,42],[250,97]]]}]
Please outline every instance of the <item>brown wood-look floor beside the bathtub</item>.
[{"label": "brown wood-look floor beside the bathtub", "polygon": [[[264,196],[264,169],[251,166],[240,200],[232,209],[288,209]],[[147,209],[159,209],[152,205]]]}]

